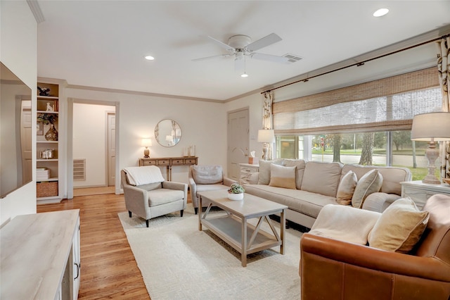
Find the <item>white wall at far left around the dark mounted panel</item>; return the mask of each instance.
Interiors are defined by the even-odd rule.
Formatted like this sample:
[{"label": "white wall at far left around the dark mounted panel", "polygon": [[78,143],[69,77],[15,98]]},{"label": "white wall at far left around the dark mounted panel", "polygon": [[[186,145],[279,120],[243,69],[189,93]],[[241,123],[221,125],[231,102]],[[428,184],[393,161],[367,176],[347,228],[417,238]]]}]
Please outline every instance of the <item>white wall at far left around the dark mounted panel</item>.
[{"label": "white wall at far left around the dark mounted panel", "polygon": [[[37,23],[26,1],[0,1],[0,61],[32,89],[32,123],[36,123]],[[32,153],[35,144],[32,126]],[[36,168],[36,157],[32,167]],[[28,213],[36,213],[35,172],[32,182],[0,199],[0,226]]]}]

